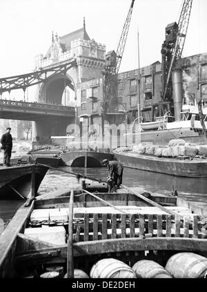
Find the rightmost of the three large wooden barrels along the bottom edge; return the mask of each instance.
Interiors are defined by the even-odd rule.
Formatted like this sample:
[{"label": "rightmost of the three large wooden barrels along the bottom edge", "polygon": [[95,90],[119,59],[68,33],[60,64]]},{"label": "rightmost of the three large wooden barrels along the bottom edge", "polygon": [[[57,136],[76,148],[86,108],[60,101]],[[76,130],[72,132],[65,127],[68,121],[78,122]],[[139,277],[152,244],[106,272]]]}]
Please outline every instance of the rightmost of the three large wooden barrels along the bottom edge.
[{"label": "rightmost of the three large wooden barrels along the bottom edge", "polygon": [[177,253],[169,258],[166,270],[174,278],[204,278],[207,258],[196,253]]}]

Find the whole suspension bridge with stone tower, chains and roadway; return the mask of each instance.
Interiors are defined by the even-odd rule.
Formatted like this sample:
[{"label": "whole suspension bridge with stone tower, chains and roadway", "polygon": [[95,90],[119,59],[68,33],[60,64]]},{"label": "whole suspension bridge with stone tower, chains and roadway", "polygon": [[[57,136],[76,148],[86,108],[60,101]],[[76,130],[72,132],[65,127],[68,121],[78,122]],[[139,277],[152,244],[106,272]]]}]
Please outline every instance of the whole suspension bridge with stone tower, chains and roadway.
[{"label": "whole suspension bridge with stone tower, chains and roadway", "polygon": [[[0,79],[0,119],[34,121],[33,137],[66,135],[68,124],[77,119],[75,108],[81,106],[79,84],[102,77],[105,52],[104,45],[88,36],[85,20],[83,28],[63,37],[52,32],[46,55],[35,57],[34,72]],[[32,88],[35,102],[25,101],[27,88]],[[74,99],[69,106],[66,89]],[[24,101],[6,99],[12,90],[23,90]]]}]

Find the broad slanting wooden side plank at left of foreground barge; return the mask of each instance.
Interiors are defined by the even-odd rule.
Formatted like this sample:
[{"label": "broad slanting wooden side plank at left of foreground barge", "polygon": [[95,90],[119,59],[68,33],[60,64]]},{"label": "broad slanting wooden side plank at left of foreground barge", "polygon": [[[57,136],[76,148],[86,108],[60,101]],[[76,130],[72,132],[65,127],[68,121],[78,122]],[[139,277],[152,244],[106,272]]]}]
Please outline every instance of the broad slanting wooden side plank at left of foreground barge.
[{"label": "broad slanting wooden side plank at left of foreground barge", "polygon": [[21,206],[0,236],[0,278],[5,278],[13,266],[17,235],[23,232],[24,226],[33,210],[34,201],[28,207]]}]

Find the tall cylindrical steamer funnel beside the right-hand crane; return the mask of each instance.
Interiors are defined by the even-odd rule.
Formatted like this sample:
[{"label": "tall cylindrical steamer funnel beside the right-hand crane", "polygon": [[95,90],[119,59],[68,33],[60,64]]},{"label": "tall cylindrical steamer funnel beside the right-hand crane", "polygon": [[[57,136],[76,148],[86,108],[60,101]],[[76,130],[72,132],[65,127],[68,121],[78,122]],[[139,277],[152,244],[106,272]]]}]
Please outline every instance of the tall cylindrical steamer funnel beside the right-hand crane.
[{"label": "tall cylindrical steamer funnel beside the right-hand crane", "polygon": [[172,70],[172,97],[174,102],[175,121],[181,121],[181,109],[183,99],[182,70]]}]

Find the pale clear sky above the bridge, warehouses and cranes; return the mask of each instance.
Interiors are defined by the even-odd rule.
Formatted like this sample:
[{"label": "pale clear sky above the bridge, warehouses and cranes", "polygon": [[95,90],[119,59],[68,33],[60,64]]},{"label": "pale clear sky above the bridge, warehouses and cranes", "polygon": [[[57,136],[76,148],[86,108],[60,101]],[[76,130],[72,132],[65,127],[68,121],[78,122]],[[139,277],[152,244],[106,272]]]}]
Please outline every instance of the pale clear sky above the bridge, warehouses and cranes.
[{"label": "pale clear sky above the bridge, warehouses and cranes", "polygon": [[[34,57],[50,48],[52,30],[61,37],[83,27],[90,39],[117,50],[131,0],[1,0],[0,78],[34,70]],[[161,61],[168,23],[178,21],[183,0],[135,0],[119,72]],[[207,1],[193,0],[183,57],[207,52]]]}]

